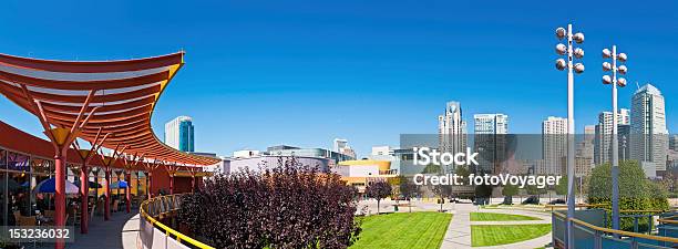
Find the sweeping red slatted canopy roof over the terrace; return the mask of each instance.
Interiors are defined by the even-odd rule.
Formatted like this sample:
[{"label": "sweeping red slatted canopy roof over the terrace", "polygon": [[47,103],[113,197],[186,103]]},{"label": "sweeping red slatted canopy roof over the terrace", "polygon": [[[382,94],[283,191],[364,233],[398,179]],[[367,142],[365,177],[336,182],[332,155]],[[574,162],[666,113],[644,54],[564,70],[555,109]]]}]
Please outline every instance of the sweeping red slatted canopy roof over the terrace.
[{"label": "sweeping red slatted canopy roof over the terrace", "polygon": [[212,165],[218,159],[186,154],[157,139],[151,127],[155,103],[184,64],[184,53],[125,61],[50,61],[0,54],[0,93],[49,124],[71,127],[94,91],[85,113],[96,112],[79,137],[103,146],[125,147],[125,154],[185,165]]}]

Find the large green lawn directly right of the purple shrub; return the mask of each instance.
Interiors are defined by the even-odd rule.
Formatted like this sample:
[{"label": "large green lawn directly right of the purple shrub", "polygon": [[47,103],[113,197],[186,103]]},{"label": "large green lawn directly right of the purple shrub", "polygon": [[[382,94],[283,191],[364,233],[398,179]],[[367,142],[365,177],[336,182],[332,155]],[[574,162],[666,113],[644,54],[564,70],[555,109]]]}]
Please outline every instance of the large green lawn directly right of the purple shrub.
[{"label": "large green lawn directly right of the purple shrub", "polygon": [[397,212],[366,217],[362,232],[351,249],[440,248],[452,215]]}]

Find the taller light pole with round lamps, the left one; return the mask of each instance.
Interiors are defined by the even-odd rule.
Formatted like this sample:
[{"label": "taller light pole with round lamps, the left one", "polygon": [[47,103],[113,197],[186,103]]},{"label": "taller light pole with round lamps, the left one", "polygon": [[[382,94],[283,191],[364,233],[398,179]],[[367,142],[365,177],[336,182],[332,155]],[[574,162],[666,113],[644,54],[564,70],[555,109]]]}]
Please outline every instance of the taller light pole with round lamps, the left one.
[{"label": "taller light pole with round lamps, the left one", "polygon": [[[574,165],[574,72],[583,73],[584,64],[573,64],[574,58],[584,58],[584,50],[581,48],[573,48],[573,40],[576,43],[584,42],[583,33],[572,34],[572,24],[567,24],[567,30],[564,28],[556,29],[556,37],[558,40],[566,39],[567,45],[559,43],[556,45],[556,53],[558,55],[566,55],[566,60],[561,58],[556,60],[556,69],[563,71],[567,69],[567,235],[565,239],[565,248],[574,248],[574,212],[575,212],[575,191],[574,191],[574,177],[575,177],[575,165]],[[574,58],[573,58],[574,56]]]}]

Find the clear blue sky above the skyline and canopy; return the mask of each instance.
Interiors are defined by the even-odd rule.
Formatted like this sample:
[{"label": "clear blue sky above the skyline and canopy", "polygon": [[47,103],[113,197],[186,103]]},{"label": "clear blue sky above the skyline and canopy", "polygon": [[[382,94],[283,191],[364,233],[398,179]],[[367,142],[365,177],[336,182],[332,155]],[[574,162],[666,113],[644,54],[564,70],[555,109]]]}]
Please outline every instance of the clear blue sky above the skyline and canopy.
[{"label": "clear blue sky above the skyline and canopy", "polygon": [[[161,97],[153,126],[194,117],[196,148],[228,155],[289,144],[330,147],[348,138],[360,155],[398,145],[401,133],[435,133],[446,101],[510,115],[510,132],[540,133],[566,115],[566,74],[554,69],[554,29],[585,32],[586,72],[576,76],[581,132],[610,106],[600,50],[629,54],[635,82],[665,95],[678,129],[676,1],[3,1],[0,52],[112,60],[184,49],[186,65]],[[199,2],[199,3],[198,3]],[[559,2],[561,4],[555,4]],[[0,120],[40,134],[35,117],[0,97]]]}]

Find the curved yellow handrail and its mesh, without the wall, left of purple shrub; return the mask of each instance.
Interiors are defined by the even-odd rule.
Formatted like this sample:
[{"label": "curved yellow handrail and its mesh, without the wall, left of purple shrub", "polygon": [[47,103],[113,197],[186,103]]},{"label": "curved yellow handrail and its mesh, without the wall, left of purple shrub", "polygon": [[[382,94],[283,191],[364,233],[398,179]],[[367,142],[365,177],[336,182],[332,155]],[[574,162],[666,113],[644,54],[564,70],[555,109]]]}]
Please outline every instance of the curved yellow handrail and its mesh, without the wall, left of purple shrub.
[{"label": "curved yellow handrail and its mesh, without the wall, left of purple shrub", "polygon": [[182,195],[168,195],[144,200],[140,208],[141,217],[148,220],[148,222],[153,224],[155,227],[162,228],[165,231],[165,236],[176,238],[176,241],[179,243],[184,241],[185,243],[189,243],[201,249],[215,249],[214,247],[185,236],[184,234],[178,232],[155,219],[155,217],[162,218],[175,214],[181,208],[181,197]]}]

